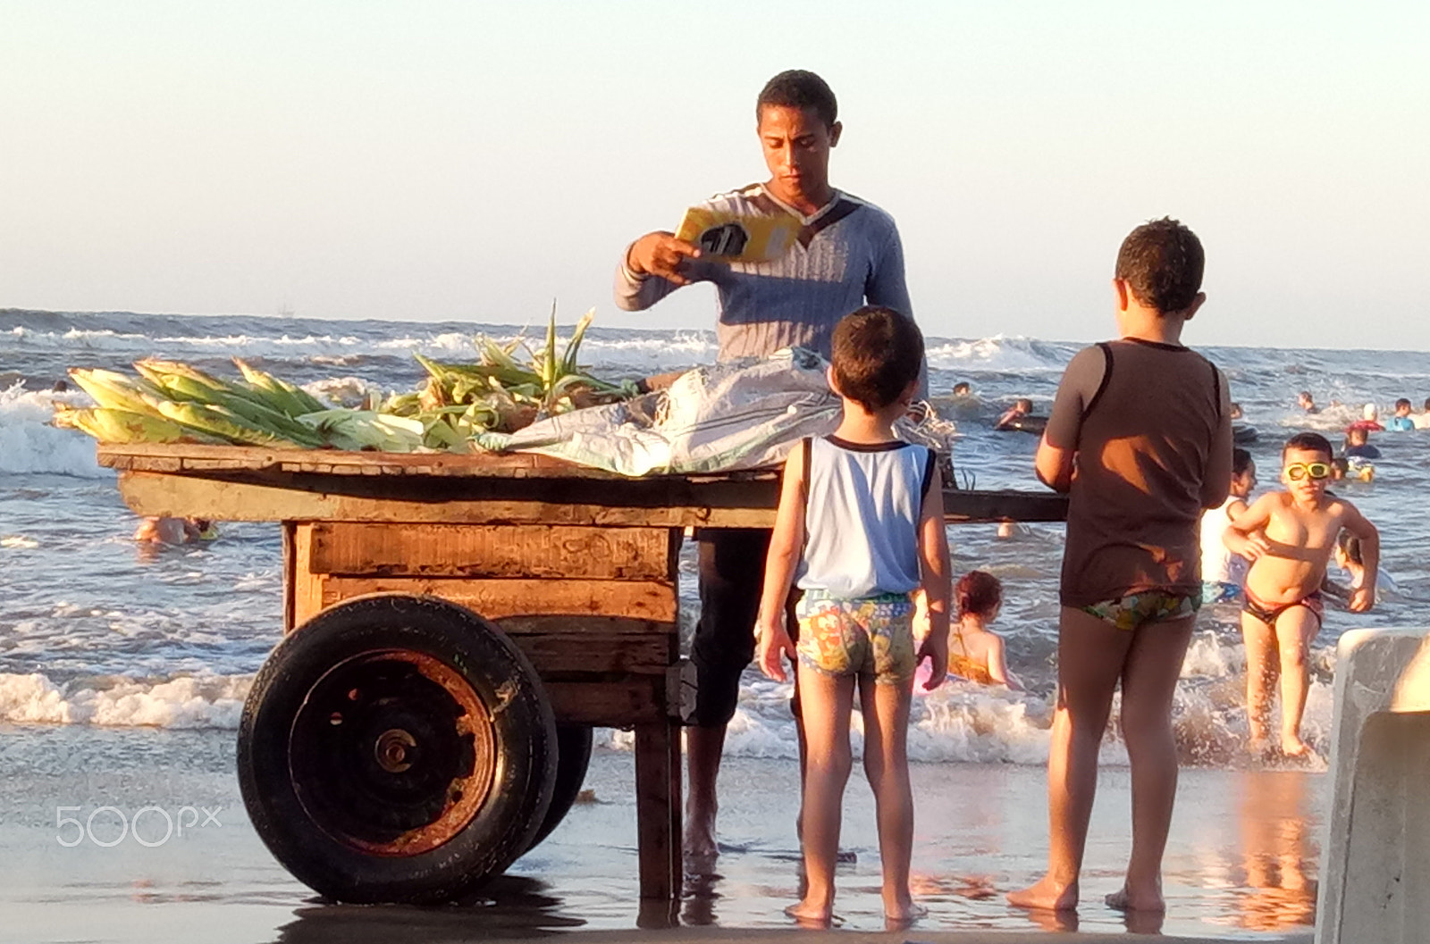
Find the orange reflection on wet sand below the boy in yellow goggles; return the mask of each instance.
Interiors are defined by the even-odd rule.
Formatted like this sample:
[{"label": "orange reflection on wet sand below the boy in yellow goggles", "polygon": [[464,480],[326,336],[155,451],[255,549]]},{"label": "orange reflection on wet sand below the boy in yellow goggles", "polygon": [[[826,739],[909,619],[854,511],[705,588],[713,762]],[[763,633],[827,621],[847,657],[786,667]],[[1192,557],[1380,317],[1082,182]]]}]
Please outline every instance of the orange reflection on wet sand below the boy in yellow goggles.
[{"label": "orange reflection on wet sand below the boy in yellow goggles", "polygon": [[1316,923],[1314,814],[1298,771],[1248,770],[1240,775],[1241,857],[1246,887],[1237,924],[1278,931]]}]

